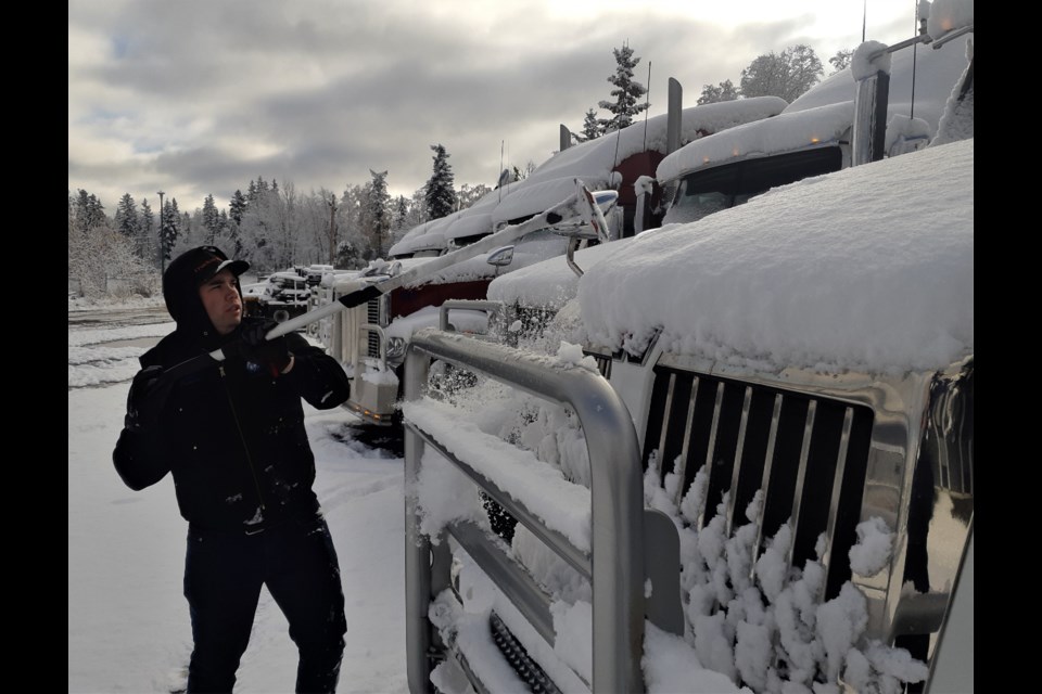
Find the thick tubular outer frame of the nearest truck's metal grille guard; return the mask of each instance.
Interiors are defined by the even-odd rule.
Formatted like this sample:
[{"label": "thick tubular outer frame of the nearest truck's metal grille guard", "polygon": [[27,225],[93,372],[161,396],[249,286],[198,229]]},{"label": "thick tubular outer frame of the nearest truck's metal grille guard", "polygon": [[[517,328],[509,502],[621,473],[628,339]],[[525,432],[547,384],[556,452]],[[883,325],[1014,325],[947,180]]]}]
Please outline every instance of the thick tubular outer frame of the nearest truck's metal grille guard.
[{"label": "thick tubular outer frame of the nearest truck's metal grille guard", "polygon": [[[584,369],[547,369],[545,358],[433,329],[415,333],[406,355],[408,400],[419,397],[431,359],[441,359],[566,404],[575,412],[585,433],[592,476],[593,690],[643,691],[644,490],[637,436],[622,400],[600,375]],[[414,480],[423,441],[410,430],[406,442],[407,479]],[[419,518],[409,506],[406,524],[408,538],[419,534]],[[415,547],[407,552],[419,552]],[[423,552],[425,557],[425,548]],[[414,691],[425,686],[411,674],[427,670],[430,646],[422,638],[429,624],[419,609],[430,604],[430,580],[420,576],[428,574],[423,564],[414,558],[406,565],[410,606],[407,654]]]}]

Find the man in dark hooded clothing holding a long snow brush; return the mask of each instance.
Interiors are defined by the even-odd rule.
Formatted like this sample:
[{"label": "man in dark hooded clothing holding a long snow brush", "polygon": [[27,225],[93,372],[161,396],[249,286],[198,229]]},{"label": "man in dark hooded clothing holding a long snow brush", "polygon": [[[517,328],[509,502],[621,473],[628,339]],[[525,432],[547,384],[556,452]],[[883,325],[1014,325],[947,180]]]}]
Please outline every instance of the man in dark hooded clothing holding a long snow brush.
[{"label": "man in dark hooded clothing holding a long snow brush", "polygon": [[[239,275],[249,267],[201,246],[167,268],[163,297],[177,329],[141,357],[113,461],[135,490],[174,475],[189,523],[188,691],[231,691],[267,586],[300,652],[296,691],[332,692],[344,596],[312,491],[301,398],[333,408],[347,399],[348,383],[334,359],[300,335],[265,340],[274,323],[243,319]],[[218,348],[224,361],[167,373]]]}]

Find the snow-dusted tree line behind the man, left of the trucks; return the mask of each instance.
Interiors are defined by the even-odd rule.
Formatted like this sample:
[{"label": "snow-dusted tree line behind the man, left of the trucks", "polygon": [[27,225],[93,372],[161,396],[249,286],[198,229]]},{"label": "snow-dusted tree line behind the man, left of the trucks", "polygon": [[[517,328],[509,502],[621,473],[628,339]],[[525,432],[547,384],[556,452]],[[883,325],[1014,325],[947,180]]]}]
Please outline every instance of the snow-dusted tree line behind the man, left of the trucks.
[{"label": "snow-dusted tree line behind the man, left of the trucks", "polygon": [[150,294],[171,258],[204,244],[247,260],[257,272],[310,264],[365,267],[385,257],[409,229],[492,192],[483,183],[457,189],[445,146],[431,150],[431,178],[409,197],[392,196],[389,172],[372,169],[369,181],[347,184],[339,194],[326,188],[303,193],[291,181],[257,177],[226,207],[211,194],[191,213],[182,211],[173,195],[161,209],[155,198],[137,201],[126,193],[109,215],[97,195],[69,191],[68,277],[86,296],[111,293],[112,278],[125,280],[130,292]]}]

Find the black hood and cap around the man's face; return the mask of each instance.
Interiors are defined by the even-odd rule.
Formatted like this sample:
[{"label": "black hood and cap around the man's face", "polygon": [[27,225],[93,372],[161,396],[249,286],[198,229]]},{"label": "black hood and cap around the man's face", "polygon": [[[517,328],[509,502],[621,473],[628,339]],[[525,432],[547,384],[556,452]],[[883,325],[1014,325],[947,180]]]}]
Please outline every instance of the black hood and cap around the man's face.
[{"label": "black hood and cap around the man's face", "polygon": [[221,336],[214,330],[199,297],[199,287],[221,270],[231,270],[241,297],[239,275],[249,268],[250,264],[245,260],[229,260],[217,246],[199,246],[175,258],[163,273],[163,298],[166,300],[166,310],[177,322],[178,332],[199,340],[206,348],[221,343]]}]

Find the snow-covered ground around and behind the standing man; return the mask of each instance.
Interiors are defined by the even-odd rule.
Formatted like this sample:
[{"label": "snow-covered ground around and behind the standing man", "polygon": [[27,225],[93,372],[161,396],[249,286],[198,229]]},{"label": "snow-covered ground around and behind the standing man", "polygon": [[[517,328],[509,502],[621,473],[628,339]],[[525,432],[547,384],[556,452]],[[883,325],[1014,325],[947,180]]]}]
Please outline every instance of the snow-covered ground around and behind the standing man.
[{"label": "snow-covered ground around and behind the standing man", "polygon": [[[112,449],[137,356],[173,324],[127,325],[119,310],[90,323],[82,310],[69,303],[68,691],[168,692],[191,652],[187,523],[169,477],[134,492]],[[346,412],[305,411],[347,599],[339,691],[404,692],[403,461],[357,440]],[[285,620],[265,592],[236,691],[290,692],[295,671]]]}]

